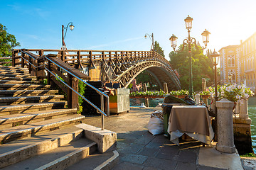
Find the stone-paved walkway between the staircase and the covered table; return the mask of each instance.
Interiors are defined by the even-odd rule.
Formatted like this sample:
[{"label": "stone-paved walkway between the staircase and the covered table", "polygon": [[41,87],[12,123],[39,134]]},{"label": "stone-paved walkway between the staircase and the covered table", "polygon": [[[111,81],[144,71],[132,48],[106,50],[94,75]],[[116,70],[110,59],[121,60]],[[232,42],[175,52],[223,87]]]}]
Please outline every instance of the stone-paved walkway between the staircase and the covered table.
[{"label": "stone-paved walkway between the staircase and the covered table", "polygon": [[[151,135],[147,123],[154,108],[131,108],[105,118],[105,129],[117,132],[120,169],[242,169],[238,154],[222,154],[201,142],[174,145],[164,135]],[[100,127],[100,116],[87,117],[85,123]]]}]

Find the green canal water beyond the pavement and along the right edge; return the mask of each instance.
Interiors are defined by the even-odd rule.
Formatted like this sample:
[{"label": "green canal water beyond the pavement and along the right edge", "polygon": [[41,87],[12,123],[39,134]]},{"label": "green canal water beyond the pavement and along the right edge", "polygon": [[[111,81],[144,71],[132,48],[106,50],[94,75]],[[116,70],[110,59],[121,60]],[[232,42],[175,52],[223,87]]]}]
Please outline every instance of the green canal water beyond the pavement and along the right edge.
[{"label": "green canal water beyond the pavement and along the right edge", "polygon": [[[145,103],[144,98],[130,98],[131,106],[141,106],[142,103]],[[149,98],[150,107],[156,107],[158,103],[163,103],[163,98]],[[250,97],[248,99],[248,114],[252,119],[252,147],[253,151],[256,153],[256,96]]]}]

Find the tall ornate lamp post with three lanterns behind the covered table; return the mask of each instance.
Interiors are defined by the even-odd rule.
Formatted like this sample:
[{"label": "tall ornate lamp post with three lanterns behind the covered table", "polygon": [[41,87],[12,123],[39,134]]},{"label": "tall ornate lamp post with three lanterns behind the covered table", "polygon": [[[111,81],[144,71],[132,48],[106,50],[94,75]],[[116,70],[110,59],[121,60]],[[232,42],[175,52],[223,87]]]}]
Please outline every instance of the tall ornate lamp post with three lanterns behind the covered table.
[{"label": "tall ornate lamp post with three lanterns behind the covered table", "polygon": [[[189,97],[193,98],[193,74],[192,74],[192,60],[191,60],[191,44],[195,45],[195,47],[197,49],[199,49],[199,47],[196,45],[196,39],[192,38],[190,35],[193,18],[188,16],[184,21],[186,23],[186,29],[188,30],[188,38],[183,40],[183,47],[180,51],[183,51],[185,45],[188,45],[188,57],[189,57],[189,90],[188,91],[189,91]],[[209,31],[205,30],[205,31],[203,31],[203,33],[201,35],[203,37],[203,43],[207,46],[207,43],[209,42],[209,35],[210,35]],[[171,36],[171,38],[169,38],[169,40],[171,40],[171,47],[174,48],[174,52],[177,52],[175,50],[175,47],[177,45],[178,38],[173,34]],[[204,50],[204,49],[206,49],[206,47],[203,47],[203,48],[200,47],[200,50]]]}]

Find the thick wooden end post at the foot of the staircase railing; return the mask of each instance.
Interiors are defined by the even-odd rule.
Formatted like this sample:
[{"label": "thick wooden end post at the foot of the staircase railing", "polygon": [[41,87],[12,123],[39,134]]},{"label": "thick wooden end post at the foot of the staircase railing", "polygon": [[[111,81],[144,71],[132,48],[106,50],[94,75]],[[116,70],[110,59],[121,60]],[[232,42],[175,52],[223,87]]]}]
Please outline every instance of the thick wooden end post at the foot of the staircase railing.
[{"label": "thick wooden end post at the foot of the staircase railing", "polygon": [[[68,85],[75,91],[78,91],[78,79],[68,74]],[[68,88],[68,108],[78,108],[78,94]]]}]

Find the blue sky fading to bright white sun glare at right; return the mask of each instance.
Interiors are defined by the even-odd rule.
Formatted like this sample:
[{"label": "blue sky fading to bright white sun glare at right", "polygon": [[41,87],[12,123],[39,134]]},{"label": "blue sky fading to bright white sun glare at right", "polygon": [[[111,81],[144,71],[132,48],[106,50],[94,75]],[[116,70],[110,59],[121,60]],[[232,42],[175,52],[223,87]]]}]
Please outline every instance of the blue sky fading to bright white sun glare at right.
[{"label": "blue sky fading to bright white sun glare at right", "polygon": [[[21,48],[60,49],[61,26],[73,22],[65,44],[70,50],[147,51],[154,40],[166,59],[188,37],[184,19],[193,18],[191,36],[203,45],[201,33],[210,32],[209,49],[239,45],[256,32],[255,0],[0,0],[0,23],[16,36]],[[19,48],[19,47],[18,47]]]}]

